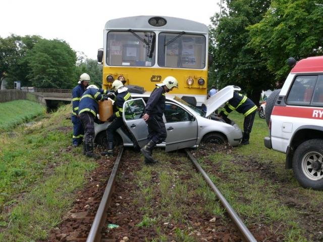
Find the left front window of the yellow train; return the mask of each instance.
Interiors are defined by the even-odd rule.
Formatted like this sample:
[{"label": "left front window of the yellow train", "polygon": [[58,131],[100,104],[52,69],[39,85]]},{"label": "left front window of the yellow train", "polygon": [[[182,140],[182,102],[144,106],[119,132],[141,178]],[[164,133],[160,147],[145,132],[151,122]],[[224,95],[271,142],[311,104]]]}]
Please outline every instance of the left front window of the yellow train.
[{"label": "left front window of the yellow train", "polygon": [[110,31],[106,38],[106,64],[109,66],[153,66],[155,33]]}]

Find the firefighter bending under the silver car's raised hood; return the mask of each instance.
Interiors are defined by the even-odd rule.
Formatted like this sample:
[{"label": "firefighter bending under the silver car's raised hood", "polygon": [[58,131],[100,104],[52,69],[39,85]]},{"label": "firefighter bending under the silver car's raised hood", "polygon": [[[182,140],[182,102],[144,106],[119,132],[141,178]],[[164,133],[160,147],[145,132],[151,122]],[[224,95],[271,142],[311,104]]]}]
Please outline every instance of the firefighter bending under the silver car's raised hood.
[{"label": "firefighter bending under the silver car's raised hood", "polygon": [[233,110],[245,116],[243,122],[243,137],[241,143],[249,144],[249,137],[253,125],[254,116],[256,114],[257,106],[250,99],[248,99],[246,95],[234,92],[233,98],[226,103],[223,110],[220,112],[219,117],[222,117],[226,121],[226,123],[231,124],[232,121],[228,118],[228,115]]}]

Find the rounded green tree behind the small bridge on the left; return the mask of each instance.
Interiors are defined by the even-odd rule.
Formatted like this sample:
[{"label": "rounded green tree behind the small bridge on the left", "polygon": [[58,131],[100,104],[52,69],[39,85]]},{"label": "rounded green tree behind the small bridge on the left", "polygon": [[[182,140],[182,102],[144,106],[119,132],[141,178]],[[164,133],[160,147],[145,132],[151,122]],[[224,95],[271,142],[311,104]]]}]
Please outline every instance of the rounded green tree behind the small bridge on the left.
[{"label": "rounded green tree behind the small bridge on the left", "polygon": [[63,89],[75,86],[76,54],[64,40],[39,40],[27,52],[27,61],[33,86]]}]

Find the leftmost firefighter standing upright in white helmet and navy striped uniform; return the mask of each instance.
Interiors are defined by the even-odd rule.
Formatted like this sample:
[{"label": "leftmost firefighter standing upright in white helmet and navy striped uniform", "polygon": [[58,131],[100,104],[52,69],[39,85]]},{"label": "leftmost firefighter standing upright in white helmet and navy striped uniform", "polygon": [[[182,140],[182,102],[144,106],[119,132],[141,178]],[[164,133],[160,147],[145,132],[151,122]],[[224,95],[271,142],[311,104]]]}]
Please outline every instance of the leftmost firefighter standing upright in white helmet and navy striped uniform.
[{"label": "leftmost firefighter standing upright in white helmet and navy striped uniform", "polygon": [[72,144],[73,147],[77,147],[82,143],[82,139],[84,136],[84,129],[79,117],[79,103],[81,100],[81,96],[83,95],[86,87],[89,85],[91,81],[90,76],[86,73],[80,75],[80,79],[77,82],[77,86],[75,86],[72,90],[72,123],[73,123],[73,138]]}]

